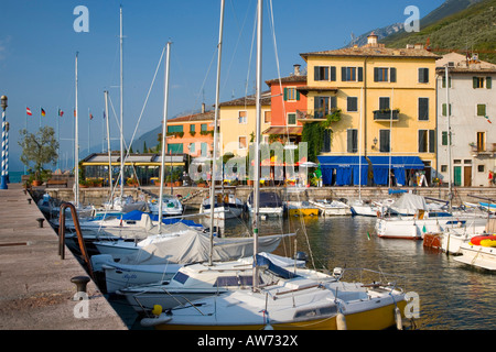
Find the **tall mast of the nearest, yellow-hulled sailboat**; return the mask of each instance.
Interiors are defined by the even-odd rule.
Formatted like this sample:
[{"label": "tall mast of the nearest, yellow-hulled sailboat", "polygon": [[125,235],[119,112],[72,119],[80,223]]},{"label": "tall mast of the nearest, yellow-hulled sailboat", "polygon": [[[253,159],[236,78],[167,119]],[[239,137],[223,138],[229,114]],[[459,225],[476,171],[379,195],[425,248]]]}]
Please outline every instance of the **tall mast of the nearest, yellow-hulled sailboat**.
[{"label": "tall mast of the nearest, yellow-hulled sailboat", "polygon": [[257,82],[256,82],[256,133],[255,133],[255,188],[254,188],[254,290],[258,287],[258,222],[260,202],[260,117],[261,117],[261,48],[262,48],[262,0],[257,4]]}]

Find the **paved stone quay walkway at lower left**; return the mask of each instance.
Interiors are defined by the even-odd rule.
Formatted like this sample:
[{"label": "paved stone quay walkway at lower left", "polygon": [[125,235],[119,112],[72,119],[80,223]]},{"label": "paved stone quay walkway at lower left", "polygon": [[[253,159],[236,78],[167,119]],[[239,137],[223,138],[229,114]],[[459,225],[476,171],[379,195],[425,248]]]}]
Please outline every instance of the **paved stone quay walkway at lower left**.
[{"label": "paved stone quay walkway at lower left", "polygon": [[126,330],[93,280],[87,300],[74,300],[75,276],[88,276],[21,184],[0,189],[0,330]]}]

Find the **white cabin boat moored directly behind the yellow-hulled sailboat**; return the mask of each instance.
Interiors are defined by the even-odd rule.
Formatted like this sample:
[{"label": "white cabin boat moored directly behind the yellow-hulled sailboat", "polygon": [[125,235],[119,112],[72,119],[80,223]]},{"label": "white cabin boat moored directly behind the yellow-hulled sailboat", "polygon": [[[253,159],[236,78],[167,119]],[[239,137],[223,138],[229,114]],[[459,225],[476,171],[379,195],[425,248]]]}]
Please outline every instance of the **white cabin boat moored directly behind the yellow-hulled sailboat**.
[{"label": "white cabin boat moored directly behind the yellow-hulled sailboat", "polygon": [[[280,267],[304,275],[306,272],[304,261],[259,253],[270,263]],[[130,286],[122,288],[118,294],[126,299],[138,312],[151,311],[155,305],[162,309],[186,305],[195,299],[225,293],[229,289],[249,289],[252,285],[254,257],[244,257],[230,262],[214,262],[191,264],[181,267],[169,282],[159,282],[148,285]],[[326,275],[311,272],[312,278],[325,278]]]}]

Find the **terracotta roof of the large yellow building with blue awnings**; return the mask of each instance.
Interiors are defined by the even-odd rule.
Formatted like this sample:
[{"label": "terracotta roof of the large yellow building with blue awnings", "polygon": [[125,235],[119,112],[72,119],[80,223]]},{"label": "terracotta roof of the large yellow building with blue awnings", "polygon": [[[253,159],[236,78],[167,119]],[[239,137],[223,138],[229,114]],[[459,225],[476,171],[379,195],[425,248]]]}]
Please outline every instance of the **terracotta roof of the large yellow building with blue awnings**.
[{"label": "terracotta roof of the large yellow building with blue awnings", "polygon": [[305,61],[309,56],[373,56],[373,57],[414,57],[414,58],[441,58],[423,48],[390,48],[384,46],[345,47],[335,51],[323,51],[300,54]]}]

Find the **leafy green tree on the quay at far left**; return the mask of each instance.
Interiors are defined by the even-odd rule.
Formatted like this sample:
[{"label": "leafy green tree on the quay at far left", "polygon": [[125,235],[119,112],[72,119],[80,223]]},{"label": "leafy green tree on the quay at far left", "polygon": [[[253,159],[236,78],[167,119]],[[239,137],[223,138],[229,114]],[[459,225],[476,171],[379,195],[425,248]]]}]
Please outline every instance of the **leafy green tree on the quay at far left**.
[{"label": "leafy green tree on the quay at far left", "polygon": [[[46,174],[44,165],[56,165],[58,158],[58,142],[55,131],[51,127],[42,127],[36,133],[29,133],[26,129],[19,131],[21,140],[18,142],[22,147],[21,162],[34,174],[34,179],[43,180]],[[31,167],[31,164],[34,164]]]}]

